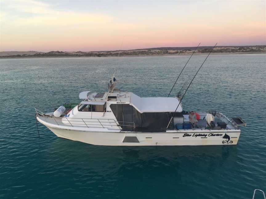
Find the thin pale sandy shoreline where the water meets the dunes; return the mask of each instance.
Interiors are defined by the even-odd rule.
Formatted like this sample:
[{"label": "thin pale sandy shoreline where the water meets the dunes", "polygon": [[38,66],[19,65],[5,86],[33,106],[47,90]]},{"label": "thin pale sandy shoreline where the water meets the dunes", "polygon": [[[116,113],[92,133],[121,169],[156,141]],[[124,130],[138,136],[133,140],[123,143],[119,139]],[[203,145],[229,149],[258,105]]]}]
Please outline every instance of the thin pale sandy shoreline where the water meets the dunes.
[{"label": "thin pale sandy shoreline where the water meets the dunes", "polygon": [[[237,54],[265,54],[266,52],[249,53],[211,53],[212,55],[237,55]],[[41,58],[110,58],[110,57],[167,57],[167,56],[189,56],[192,53],[162,54],[162,55],[126,55],[126,56],[45,56],[45,57],[0,57],[0,59],[41,59]],[[208,53],[194,53],[193,56],[208,55]]]}]

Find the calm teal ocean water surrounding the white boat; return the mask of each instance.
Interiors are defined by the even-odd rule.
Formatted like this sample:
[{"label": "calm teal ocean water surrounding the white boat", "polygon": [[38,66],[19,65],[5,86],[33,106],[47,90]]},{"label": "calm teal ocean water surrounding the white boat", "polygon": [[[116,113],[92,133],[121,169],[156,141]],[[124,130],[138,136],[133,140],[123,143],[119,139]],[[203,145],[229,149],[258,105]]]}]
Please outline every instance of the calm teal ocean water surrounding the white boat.
[{"label": "calm teal ocean water surrounding the white boat", "polygon": [[[34,119],[78,103],[79,92],[117,87],[167,96],[188,56],[0,60],[0,198],[252,198],[266,192],[265,54],[211,55],[183,108],[241,116],[236,146],[94,146],[56,137]],[[193,56],[175,86],[191,80]],[[256,199],[263,198],[256,194]]]}]

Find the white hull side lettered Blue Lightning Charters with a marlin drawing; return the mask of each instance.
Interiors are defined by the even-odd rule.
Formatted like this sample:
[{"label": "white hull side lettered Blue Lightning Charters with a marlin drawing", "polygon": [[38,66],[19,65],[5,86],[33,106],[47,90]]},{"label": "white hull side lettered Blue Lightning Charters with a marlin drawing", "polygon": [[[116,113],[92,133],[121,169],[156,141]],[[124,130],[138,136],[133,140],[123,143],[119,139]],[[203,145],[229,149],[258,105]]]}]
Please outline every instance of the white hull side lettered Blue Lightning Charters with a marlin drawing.
[{"label": "white hull side lettered Blue Lightning Charters with a marlin drawing", "polygon": [[[47,126],[48,127],[48,126]],[[93,145],[105,146],[184,146],[184,145],[236,145],[240,137],[240,130],[215,130],[186,132],[93,132],[75,131],[48,127],[60,138],[85,142]],[[227,134],[230,140],[224,139]],[[134,137],[139,142],[123,142],[125,137]]]}]

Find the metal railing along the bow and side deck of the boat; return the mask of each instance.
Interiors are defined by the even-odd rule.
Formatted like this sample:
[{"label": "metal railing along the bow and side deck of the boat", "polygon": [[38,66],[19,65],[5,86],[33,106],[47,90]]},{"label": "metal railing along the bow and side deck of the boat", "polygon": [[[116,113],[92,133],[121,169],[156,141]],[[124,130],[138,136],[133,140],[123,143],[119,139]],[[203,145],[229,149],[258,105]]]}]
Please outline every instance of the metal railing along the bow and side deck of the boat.
[{"label": "metal railing along the bow and side deck of the boat", "polygon": [[[98,118],[68,118],[68,117],[55,117],[54,115],[48,115],[39,111],[35,108],[36,116],[42,116],[45,118],[49,118],[55,121],[55,123],[59,125],[70,125],[74,127],[76,125],[83,125],[86,127],[119,127],[119,129],[123,129],[123,127],[133,127],[135,128],[134,122],[121,122],[115,119],[98,119]],[[59,124],[60,123],[60,124]]]}]

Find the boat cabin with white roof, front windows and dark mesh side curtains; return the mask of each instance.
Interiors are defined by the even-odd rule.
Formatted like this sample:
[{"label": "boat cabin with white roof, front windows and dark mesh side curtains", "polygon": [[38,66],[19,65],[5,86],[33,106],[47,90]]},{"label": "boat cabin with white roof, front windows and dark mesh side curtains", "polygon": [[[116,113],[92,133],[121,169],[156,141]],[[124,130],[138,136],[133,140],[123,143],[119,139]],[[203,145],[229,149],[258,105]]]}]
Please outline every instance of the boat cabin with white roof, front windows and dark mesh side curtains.
[{"label": "boat cabin with white roof, front windows and dark mesh side curtains", "polygon": [[112,93],[82,92],[80,98],[84,101],[78,105],[78,111],[115,117],[123,131],[165,132],[171,117],[182,112],[182,104],[176,97],[139,97],[119,89]]}]

